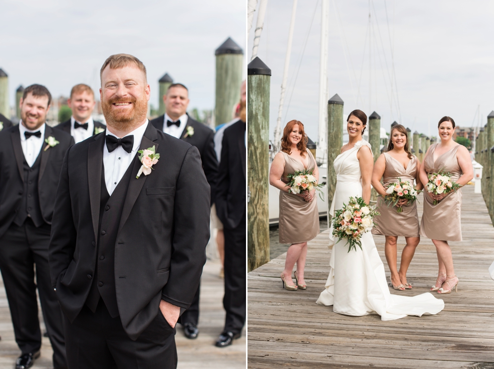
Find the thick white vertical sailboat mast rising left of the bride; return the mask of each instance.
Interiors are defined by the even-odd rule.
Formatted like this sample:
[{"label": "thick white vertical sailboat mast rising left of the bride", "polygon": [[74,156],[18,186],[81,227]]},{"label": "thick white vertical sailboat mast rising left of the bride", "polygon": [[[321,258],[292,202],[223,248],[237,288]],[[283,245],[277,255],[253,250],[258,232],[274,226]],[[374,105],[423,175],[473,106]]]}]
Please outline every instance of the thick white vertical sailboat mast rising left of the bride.
[{"label": "thick white vertical sailboat mast rising left of the bride", "polygon": [[324,161],[327,149],[328,120],[328,49],[329,49],[329,0],[321,1],[321,58],[319,65],[319,138],[318,161]]}]

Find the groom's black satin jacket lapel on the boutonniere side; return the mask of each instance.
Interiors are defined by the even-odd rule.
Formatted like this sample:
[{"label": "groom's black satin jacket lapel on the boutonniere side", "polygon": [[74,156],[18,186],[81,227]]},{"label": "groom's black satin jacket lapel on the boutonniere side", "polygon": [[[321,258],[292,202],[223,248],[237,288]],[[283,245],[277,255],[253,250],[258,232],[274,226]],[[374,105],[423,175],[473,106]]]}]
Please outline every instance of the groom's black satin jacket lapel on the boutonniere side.
[{"label": "groom's black satin jacket lapel on the boutonniere side", "polygon": [[[155,146],[156,152],[158,152],[158,144],[153,142],[158,139],[158,135],[156,132],[156,128],[153,127],[153,125],[148,123],[148,127],[146,128],[146,132],[144,132],[144,136],[142,137],[141,140],[141,145],[139,146],[139,150],[144,150],[149,147]],[[139,160],[139,154],[136,153],[136,156],[134,158],[132,167],[132,176],[131,176],[131,181],[129,183],[129,188],[127,190],[127,196],[125,197],[125,201],[123,202],[123,209],[122,209],[122,216],[120,218],[120,224],[118,225],[118,232],[122,229],[123,225],[129,218],[129,215],[131,214],[131,210],[134,207],[134,204],[136,203],[137,198],[139,197],[139,194],[141,193],[141,190],[144,186],[144,182],[146,181],[147,175],[141,174],[141,176],[136,179],[135,175],[137,175],[137,172],[139,171],[139,168],[141,167],[141,161]]]}]

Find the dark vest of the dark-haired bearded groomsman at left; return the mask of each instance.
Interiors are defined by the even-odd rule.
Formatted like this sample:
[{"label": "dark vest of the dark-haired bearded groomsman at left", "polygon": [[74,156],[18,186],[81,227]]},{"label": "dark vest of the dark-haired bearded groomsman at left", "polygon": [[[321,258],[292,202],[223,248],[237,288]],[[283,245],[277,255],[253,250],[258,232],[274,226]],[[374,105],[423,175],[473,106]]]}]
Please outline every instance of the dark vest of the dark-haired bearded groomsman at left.
[{"label": "dark vest of the dark-haired bearded groomsman at left", "polygon": [[26,158],[23,162],[24,172],[24,188],[22,189],[21,206],[17,209],[17,215],[14,219],[14,224],[21,226],[29,216],[33,220],[36,227],[40,227],[43,223],[41,208],[39,207],[38,196],[38,176],[39,164],[41,162],[41,153],[38,154],[33,166],[29,166]]}]

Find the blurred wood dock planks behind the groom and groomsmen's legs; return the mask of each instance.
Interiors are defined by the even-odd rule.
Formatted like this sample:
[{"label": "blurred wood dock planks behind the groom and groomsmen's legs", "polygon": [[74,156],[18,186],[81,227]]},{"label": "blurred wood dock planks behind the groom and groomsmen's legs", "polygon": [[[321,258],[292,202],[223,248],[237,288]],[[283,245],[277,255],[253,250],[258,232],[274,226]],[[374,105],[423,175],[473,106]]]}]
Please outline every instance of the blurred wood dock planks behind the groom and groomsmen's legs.
[{"label": "blurred wood dock planks behind the groom and groomsmen's legs", "polygon": [[[201,300],[199,316],[199,336],[189,340],[183,336],[183,331],[177,326],[175,342],[178,353],[178,368],[180,369],[244,369],[245,368],[245,336],[233,342],[233,345],[218,348],[214,346],[216,339],[225,324],[223,310],[223,279],[218,277],[219,261],[206,263],[201,281]],[[39,309],[42,321],[41,309]],[[44,325],[42,324],[42,331]],[[9,304],[5,294],[3,281],[0,278],[0,369],[12,369],[20,350],[14,339]],[[33,369],[51,369],[51,350],[48,338],[43,337],[41,356],[36,360]],[[159,367],[159,366],[157,366]],[[88,368],[89,369],[89,368]]]}]

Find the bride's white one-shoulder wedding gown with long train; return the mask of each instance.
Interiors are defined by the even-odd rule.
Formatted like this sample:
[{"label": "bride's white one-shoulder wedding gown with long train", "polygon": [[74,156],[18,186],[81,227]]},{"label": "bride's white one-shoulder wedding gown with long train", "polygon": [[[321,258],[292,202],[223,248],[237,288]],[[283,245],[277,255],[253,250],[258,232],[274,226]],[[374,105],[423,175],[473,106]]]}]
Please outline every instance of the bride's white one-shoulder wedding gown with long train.
[{"label": "bride's white one-shoulder wedding gown with long train", "polygon": [[[348,199],[362,196],[362,183],[357,151],[366,141],[338,155],[334,161],[336,190],[330,214],[341,209]],[[333,227],[331,226],[331,232]],[[379,257],[374,238],[370,232],[362,235],[362,250],[348,252],[348,244],[342,239],[334,244],[330,233],[330,247],[333,245],[329,263],[329,277],[325,290],[317,303],[333,305],[335,313],[353,316],[379,314],[381,320],[388,321],[407,315],[438,314],[444,309],[444,301],[426,292],[413,297],[392,295],[389,291],[384,265]]]}]

